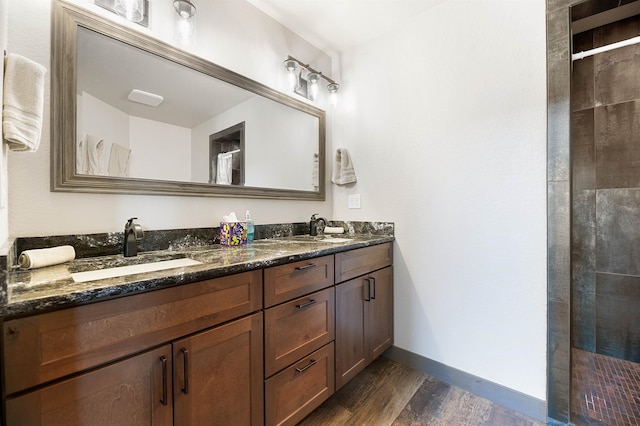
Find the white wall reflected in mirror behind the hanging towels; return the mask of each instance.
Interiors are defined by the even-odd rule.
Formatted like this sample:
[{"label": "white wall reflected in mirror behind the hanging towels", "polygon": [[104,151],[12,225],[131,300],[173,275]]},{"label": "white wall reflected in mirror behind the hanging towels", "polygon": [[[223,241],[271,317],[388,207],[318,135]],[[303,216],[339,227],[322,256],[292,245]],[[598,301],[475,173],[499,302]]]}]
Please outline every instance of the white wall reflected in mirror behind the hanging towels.
[{"label": "white wall reflected in mirror behind the hanging towels", "polygon": [[128,114],[83,92],[78,97],[78,140],[86,134],[104,140],[100,175],[107,175],[111,145],[131,149],[129,176],[189,182],[191,130]]}]

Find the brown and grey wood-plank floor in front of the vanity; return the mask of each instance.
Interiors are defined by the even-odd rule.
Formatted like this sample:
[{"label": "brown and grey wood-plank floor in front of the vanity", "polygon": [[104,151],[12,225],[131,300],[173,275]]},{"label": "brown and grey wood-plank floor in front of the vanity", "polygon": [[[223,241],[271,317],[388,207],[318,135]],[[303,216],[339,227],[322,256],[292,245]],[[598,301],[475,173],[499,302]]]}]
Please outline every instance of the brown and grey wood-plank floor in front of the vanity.
[{"label": "brown and grey wood-plank floor in front of the vanity", "polygon": [[422,372],[380,357],[300,426],[541,426]]}]

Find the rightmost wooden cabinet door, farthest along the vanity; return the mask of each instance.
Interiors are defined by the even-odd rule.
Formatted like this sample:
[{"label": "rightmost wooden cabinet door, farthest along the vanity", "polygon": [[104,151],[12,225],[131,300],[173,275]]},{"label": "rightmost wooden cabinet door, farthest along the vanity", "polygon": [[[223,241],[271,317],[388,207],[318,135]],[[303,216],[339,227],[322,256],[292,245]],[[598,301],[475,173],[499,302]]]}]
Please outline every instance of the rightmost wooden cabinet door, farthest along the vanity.
[{"label": "rightmost wooden cabinet door, farthest along the vanity", "polygon": [[393,268],[381,269],[367,277],[371,288],[367,310],[366,342],[369,362],[393,344]]}]

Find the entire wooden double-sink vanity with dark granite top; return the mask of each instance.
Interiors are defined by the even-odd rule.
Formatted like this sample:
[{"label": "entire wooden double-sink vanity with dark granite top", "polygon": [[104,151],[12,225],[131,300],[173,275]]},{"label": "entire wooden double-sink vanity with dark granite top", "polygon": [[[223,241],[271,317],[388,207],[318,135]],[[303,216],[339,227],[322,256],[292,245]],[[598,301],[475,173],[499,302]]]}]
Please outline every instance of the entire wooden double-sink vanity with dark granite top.
[{"label": "entire wooden double-sink vanity with dark granite top", "polygon": [[10,270],[6,424],[296,424],[391,346],[392,263],[391,232]]}]

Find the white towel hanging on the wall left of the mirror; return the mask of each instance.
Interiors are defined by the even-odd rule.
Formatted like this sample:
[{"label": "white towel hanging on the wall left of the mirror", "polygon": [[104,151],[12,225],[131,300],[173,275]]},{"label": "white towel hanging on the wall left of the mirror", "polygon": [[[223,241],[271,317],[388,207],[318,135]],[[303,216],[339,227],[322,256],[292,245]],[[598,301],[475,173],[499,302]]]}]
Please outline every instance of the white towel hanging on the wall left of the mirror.
[{"label": "white towel hanging on the wall left of the mirror", "polygon": [[46,72],[23,56],[5,57],[2,134],[13,151],[35,152],[40,146]]}]

